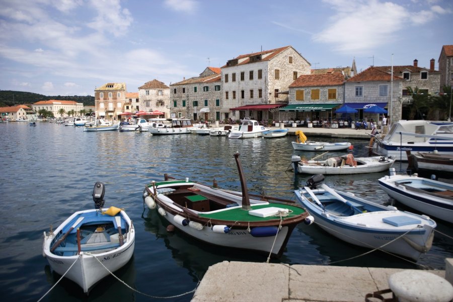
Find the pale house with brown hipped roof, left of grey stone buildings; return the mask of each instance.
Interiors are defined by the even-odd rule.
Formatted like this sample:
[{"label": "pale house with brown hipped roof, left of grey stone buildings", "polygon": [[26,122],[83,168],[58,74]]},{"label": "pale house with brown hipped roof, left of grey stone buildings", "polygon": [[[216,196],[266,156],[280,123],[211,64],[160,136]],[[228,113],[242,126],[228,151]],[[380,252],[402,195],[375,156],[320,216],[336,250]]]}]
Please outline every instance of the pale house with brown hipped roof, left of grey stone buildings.
[{"label": "pale house with brown hipped roof, left of grey stone buildings", "polygon": [[[156,79],[138,87],[138,107],[145,112],[160,111],[170,117],[170,87]],[[138,110],[138,109],[137,109]]]}]

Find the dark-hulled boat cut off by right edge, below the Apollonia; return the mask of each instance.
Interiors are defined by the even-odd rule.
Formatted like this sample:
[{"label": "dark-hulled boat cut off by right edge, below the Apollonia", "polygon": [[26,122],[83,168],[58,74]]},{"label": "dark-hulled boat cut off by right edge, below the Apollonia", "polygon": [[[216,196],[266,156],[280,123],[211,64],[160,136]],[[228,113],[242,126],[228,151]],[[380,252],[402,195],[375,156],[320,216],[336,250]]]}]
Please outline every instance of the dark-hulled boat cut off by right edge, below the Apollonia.
[{"label": "dark-hulled boat cut off by right edge, below the Apollonia", "polygon": [[415,153],[406,150],[408,169],[415,172],[453,173],[453,155],[433,153]]}]

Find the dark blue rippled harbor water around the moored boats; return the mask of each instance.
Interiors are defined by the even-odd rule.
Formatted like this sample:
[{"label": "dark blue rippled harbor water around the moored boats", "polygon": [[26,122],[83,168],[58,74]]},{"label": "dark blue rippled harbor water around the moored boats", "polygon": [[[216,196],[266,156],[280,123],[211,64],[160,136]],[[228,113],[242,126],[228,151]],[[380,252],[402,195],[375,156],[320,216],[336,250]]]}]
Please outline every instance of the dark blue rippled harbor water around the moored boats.
[{"label": "dark blue rippled harbor water around the moored boats", "polygon": [[[80,127],[46,122],[35,127],[2,123],[0,138],[0,291],[3,300],[20,301],[38,300],[59,280],[42,256],[43,232],[51,225],[55,229],[74,211],[94,208],[92,192],[97,181],[105,183],[105,207],[124,208],[133,220],[134,256],[115,272],[121,281],[108,276],[87,297],[80,287],[63,278],[43,301],[190,301],[191,291],[210,265],[265,262],[267,255],[213,247],[178,231],[167,233],[165,221],[143,205],[144,186],[151,180],[163,180],[167,173],[204,184],[215,179],[220,188],[240,191],[234,161],[239,152],[250,193],[294,200],[294,189],[304,186],[310,175],[295,175],[291,156],[310,159],[321,154],[293,150],[294,136],[153,136],[148,132],[84,132]],[[368,141],[349,141],[355,157],[368,155]],[[396,163],[394,168],[405,171],[406,166]],[[387,174],[326,176],[326,183],[376,203],[394,203],[399,209],[413,211],[381,190],[377,180]],[[444,259],[453,257],[453,229],[451,224],[436,222],[433,246],[416,263],[380,251],[361,256],[369,250],[333,238],[315,224],[298,225],[283,256],[271,262],[444,269]],[[187,292],[191,293],[183,295]],[[163,299],[169,296],[173,297]]]}]

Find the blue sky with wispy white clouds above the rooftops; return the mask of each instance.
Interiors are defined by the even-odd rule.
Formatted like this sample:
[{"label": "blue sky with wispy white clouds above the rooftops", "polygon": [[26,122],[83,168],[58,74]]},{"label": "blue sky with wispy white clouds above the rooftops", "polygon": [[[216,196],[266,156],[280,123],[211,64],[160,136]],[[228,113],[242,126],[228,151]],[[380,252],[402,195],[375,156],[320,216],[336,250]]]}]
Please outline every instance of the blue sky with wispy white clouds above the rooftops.
[{"label": "blue sky with wispy white clouds above the rooftops", "polygon": [[[453,44],[451,0],[0,0],[0,90],[94,95],[167,85],[291,45],[312,68],[429,67]],[[392,56],[393,54],[393,56]]]}]

